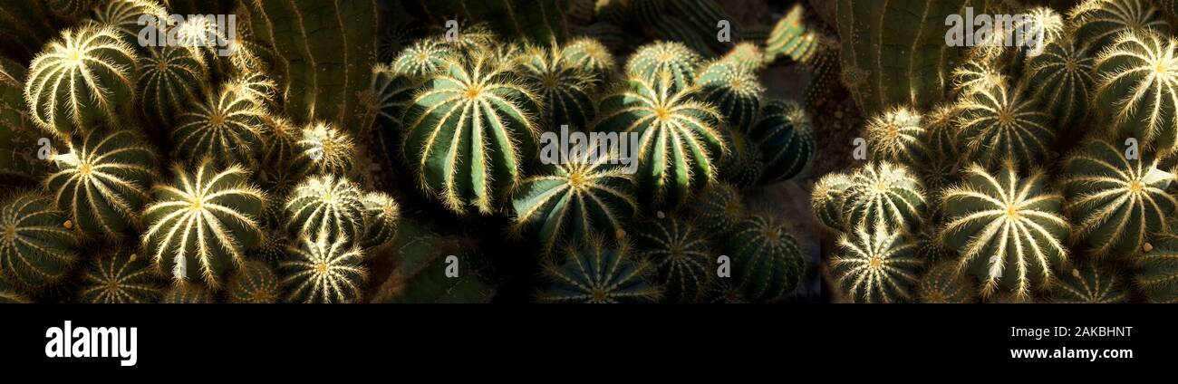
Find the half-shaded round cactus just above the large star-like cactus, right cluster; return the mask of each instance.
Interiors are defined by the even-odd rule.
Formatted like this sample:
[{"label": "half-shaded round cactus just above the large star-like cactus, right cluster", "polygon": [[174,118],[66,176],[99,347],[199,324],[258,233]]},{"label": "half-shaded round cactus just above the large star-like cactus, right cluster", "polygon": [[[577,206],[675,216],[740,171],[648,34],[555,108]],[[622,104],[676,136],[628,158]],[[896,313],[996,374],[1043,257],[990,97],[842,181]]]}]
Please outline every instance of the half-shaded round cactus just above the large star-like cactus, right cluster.
[{"label": "half-shaded round cactus just above the large star-like cactus, right cluster", "polygon": [[1001,166],[1006,159],[1020,166],[1040,164],[1055,140],[1051,117],[1020,88],[979,87],[957,108],[958,140],[966,157],[987,167]]}]

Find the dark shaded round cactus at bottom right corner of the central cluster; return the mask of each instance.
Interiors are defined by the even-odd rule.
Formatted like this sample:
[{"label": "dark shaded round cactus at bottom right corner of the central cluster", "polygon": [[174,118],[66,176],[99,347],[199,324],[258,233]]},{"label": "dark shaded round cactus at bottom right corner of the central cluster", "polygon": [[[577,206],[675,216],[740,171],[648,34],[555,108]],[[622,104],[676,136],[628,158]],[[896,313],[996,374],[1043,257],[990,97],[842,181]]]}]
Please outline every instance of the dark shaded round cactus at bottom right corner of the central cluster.
[{"label": "dark shaded round cactus at bottom right corner of the central cluster", "polygon": [[736,223],[724,244],[733,277],[746,297],[776,302],[794,292],[806,271],[801,247],[776,220],[754,216]]}]

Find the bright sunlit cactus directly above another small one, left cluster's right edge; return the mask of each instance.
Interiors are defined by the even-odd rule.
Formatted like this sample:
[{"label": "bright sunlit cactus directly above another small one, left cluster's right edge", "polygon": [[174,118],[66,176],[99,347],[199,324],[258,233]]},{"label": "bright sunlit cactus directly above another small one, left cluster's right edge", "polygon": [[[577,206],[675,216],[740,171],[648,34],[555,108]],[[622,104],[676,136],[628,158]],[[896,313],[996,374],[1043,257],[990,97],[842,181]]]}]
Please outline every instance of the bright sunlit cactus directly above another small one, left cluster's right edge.
[{"label": "bright sunlit cactus directly above another small one, left cluster's right edge", "polygon": [[359,187],[344,177],[311,177],[286,201],[286,232],[292,237],[358,239],[364,233],[364,201]]}]

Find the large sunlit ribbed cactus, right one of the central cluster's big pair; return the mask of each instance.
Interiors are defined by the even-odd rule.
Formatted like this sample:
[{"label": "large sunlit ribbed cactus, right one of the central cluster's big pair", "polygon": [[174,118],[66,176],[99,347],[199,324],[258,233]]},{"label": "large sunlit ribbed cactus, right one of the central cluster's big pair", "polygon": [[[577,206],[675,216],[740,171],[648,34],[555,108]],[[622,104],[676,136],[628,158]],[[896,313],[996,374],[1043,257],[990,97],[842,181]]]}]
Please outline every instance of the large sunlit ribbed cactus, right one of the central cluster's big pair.
[{"label": "large sunlit ribbed cactus, right one of the central cluster's big pair", "polygon": [[596,131],[641,135],[636,160],[643,201],[679,205],[715,179],[728,151],[716,110],[694,100],[689,90],[676,91],[668,74],[654,82],[631,78],[627,88],[602,99],[600,110]]}]

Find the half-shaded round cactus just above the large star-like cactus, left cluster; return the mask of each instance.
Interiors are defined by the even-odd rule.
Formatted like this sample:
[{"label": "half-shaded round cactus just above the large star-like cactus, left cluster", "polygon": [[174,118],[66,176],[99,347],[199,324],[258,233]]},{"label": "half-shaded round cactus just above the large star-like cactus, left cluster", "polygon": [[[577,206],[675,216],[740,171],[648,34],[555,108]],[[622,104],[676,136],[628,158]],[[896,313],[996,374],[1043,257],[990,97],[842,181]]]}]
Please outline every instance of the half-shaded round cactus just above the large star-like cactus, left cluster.
[{"label": "half-shaded round cactus just above the large star-like cactus, left cluster", "polygon": [[176,119],[172,141],[188,165],[206,157],[218,166],[253,166],[262,148],[265,108],[243,93],[223,90]]}]

